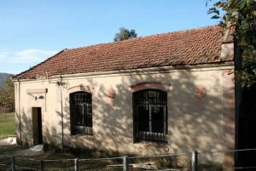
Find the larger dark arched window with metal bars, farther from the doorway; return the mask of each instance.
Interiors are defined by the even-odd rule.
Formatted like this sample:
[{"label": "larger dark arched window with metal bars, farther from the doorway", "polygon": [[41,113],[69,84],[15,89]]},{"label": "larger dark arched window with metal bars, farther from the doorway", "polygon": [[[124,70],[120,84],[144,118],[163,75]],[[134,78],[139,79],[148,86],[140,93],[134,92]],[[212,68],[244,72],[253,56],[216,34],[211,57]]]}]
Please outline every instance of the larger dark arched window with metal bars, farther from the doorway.
[{"label": "larger dark arched window with metal bars, farther from the doorway", "polygon": [[143,89],[132,94],[135,142],[166,142],[167,93]]}]

